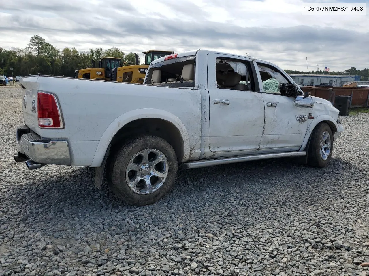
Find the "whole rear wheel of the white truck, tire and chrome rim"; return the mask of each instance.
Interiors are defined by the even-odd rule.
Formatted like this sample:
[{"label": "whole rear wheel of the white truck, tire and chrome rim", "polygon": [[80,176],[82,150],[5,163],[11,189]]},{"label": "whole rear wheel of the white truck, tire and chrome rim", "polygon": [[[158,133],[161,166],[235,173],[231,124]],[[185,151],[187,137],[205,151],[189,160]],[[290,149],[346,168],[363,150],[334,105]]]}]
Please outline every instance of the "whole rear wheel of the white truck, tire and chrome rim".
[{"label": "whole rear wheel of the white truck, tire and chrome rim", "polygon": [[164,139],[143,135],[121,146],[108,162],[108,183],[128,204],[160,200],[173,186],[178,170],[173,147]]}]

